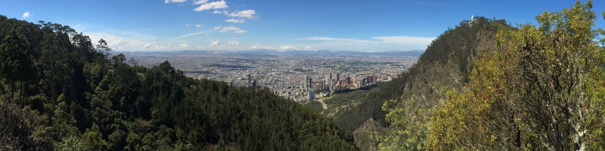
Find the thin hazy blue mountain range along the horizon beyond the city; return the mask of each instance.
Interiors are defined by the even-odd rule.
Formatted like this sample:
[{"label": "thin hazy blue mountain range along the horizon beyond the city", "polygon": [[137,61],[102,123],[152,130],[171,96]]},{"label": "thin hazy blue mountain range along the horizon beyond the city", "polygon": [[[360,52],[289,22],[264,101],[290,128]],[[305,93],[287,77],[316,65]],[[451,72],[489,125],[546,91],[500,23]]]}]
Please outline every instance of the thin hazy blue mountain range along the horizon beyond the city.
[{"label": "thin hazy blue mountain range along the horizon beyond the city", "polygon": [[359,52],[359,51],[275,51],[275,50],[250,50],[250,51],[202,51],[202,50],[184,50],[184,51],[123,51],[114,52],[123,54],[246,54],[246,55],[301,55],[301,56],[420,56],[424,50],[408,51],[384,51],[384,52]]}]

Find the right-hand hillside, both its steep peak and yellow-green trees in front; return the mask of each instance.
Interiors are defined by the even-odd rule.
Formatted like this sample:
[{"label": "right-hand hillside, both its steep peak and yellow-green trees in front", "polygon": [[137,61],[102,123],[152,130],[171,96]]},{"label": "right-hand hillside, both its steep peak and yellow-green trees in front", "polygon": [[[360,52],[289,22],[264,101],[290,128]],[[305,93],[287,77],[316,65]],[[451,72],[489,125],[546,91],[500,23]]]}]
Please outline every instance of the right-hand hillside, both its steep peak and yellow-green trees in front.
[{"label": "right-hand hillside, both its steep peak and yellow-green trees in front", "polygon": [[446,31],[384,104],[379,149],[605,150],[605,50],[594,41],[605,31],[591,8],[577,1],[514,30],[475,18]]}]

